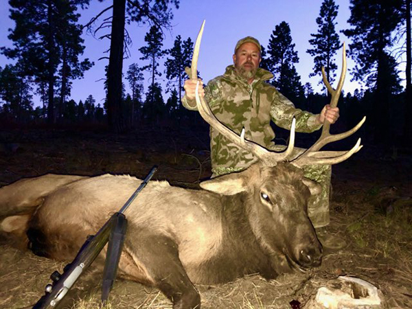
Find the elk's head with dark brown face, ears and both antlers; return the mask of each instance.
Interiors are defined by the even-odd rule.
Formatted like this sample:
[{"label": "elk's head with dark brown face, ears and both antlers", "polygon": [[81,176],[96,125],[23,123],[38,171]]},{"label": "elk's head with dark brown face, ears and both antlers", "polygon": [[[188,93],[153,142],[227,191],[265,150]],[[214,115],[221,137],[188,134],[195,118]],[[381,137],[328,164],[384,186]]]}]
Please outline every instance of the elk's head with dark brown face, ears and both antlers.
[{"label": "elk's head with dark brown face, ears and both antlers", "polygon": [[[205,22],[196,39],[192,59],[191,78],[197,79],[197,62]],[[345,78],[346,59],[343,48],[343,73],[336,89],[332,89],[325,78],[323,79],[332,94],[332,106],[336,106]],[[361,139],[349,151],[319,151],[330,141],[337,141],[352,135],[361,127],[365,118],[352,130],[339,135],[330,135],[330,124],[323,125],[319,140],[298,157],[293,157],[295,144],[295,119],[290,130],[290,139],[284,152],[273,152],[248,141],[244,138],[244,130],[238,135],[218,121],[205,102],[198,94],[196,87],[196,106],[199,113],[210,126],[238,147],[248,150],[258,162],[247,170],[238,173],[219,176],[216,179],[204,181],[201,187],[219,194],[233,195],[245,193],[249,222],[253,233],[260,245],[273,258],[277,255],[274,268],[284,271],[286,266],[304,271],[321,262],[321,245],[310,223],[307,212],[310,194],[319,193],[319,185],[304,177],[303,165],[335,164],[352,156],[361,149]],[[279,253],[283,254],[279,259]],[[280,271],[279,271],[280,270]]]}]

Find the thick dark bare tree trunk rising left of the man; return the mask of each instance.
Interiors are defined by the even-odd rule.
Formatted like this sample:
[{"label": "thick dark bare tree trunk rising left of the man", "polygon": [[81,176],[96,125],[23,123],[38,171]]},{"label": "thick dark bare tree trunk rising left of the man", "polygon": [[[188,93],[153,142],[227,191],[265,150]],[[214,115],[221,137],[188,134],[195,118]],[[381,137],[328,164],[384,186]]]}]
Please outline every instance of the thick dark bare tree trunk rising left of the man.
[{"label": "thick dark bare tree trunk rising left of the man", "polygon": [[108,126],[114,133],[123,133],[127,129],[122,113],[122,69],[125,10],[126,0],[113,0],[113,20],[107,74],[107,117]]}]

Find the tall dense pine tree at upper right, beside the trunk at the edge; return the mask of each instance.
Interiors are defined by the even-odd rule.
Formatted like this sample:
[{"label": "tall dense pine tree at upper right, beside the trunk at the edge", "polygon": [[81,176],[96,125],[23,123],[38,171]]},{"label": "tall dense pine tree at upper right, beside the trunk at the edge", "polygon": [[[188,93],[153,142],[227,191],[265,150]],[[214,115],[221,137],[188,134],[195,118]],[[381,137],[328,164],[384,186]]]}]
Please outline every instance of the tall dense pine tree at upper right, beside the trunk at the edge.
[{"label": "tall dense pine tree at upper right, beside the trunk at the edge", "polygon": [[[389,115],[392,93],[385,82],[391,58],[387,49],[393,45],[391,34],[401,21],[400,0],[351,0],[352,29],[343,33],[352,38],[349,54],[356,62],[354,80],[365,81],[374,89],[375,106],[372,115],[374,139],[389,146]],[[393,88],[393,87],[392,87]]]}]

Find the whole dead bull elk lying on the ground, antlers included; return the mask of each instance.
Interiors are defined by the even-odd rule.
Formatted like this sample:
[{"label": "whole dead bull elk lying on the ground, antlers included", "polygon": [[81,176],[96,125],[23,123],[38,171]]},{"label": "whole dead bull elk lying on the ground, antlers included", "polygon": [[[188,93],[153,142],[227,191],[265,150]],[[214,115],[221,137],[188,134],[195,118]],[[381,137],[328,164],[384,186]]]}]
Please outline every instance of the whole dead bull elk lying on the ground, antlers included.
[{"label": "whole dead bull elk lying on the ground, antlers included", "polygon": [[[197,71],[200,38],[192,72]],[[196,283],[229,282],[249,273],[270,279],[319,266],[322,249],[307,204],[320,186],[303,176],[299,164],[337,163],[361,148],[358,142],[348,152],[315,149],[288,159],[293,128],[288,149],[269,152],[218,123],[203,98],[196,95],[196,101],[211,126],[249,149],[258,161],[242,172],[204,181],[200,190],[151,181],[126,210],[119,274],[159,288],[174,308],[200,308]],[[330,137],[321,137],[315,148]],[[27,242],[38,255],[71,260],[87,235],[98,231],[140,183],[109,174],[47,174],[17,181],[0,189],[0,231]]]}]

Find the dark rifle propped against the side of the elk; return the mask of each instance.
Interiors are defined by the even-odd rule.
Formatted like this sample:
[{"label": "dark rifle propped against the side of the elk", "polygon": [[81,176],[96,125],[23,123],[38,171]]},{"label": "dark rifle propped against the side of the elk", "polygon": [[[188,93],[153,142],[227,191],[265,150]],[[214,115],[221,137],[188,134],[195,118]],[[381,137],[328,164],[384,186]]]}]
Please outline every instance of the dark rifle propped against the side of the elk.
[{"label": "dark rifle propped against the side of the elk", "polygon": [[50,275],[52,284],[47,284],[45,288],[45,295],[37,301],[33,309],[56,308],[59,301],[65,297],[78,277],[80,277],[83,271],[85,271],[87,267],[93,263],[100,251],[102,251],[108,242],[102,282],[102,303],[106,303],[108,294],[110,293],[113,282],[115,281],[117,266],[122,253],[124,236],[126,235],[127,220],[123,213],[136,198],[137,194],[143,190],[156,171],[157,167],[155,166],[152,170],[150,170],[148,176],[146,176],[146,179],[144,179],[137,190],[123,205],[122,209],[113,214],[113,216],[107,220],[98,233],[94,236],[87,237],[86,242],[84,242],[80,248],[76,258],[65,266],[62,274],[58,273],[58,271],[54,271],[54,273]]}]

